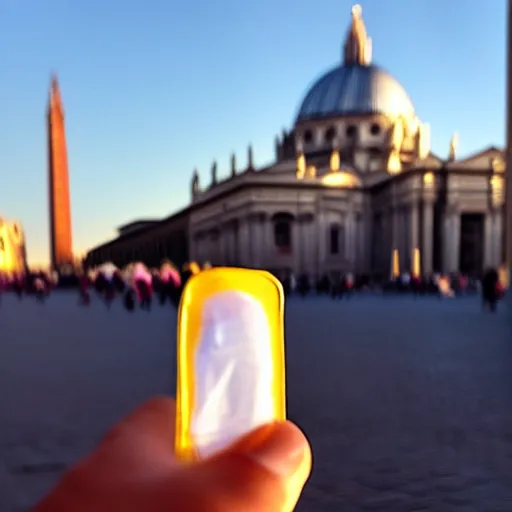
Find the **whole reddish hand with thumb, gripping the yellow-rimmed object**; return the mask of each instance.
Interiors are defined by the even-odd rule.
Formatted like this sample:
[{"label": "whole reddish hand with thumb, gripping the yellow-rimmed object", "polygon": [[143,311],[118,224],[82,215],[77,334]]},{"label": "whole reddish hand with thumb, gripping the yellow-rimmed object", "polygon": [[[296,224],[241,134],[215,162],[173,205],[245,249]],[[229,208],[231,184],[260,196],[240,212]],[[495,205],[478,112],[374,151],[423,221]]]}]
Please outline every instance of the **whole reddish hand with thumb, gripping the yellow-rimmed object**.
[{"label": "whole reddish hand with thumb, gripping the yellow-rimmed object", "polygon": [[154,398],[113,427],[34,512],[288,512],[311,472],[292,423],[266,425],[206,460],[173,452],[175,403]]}]

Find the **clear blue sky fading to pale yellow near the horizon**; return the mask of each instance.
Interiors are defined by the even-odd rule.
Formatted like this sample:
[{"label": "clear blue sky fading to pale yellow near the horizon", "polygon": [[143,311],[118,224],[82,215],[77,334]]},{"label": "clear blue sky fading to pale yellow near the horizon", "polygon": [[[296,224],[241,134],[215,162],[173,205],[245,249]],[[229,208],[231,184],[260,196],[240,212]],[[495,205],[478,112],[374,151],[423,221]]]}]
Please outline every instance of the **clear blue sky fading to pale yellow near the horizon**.
[{"label": "clear blue sky fading to pale yellow near the horizon", "polygon": [[[194,167],[228,173],[273,156],[308,85],[337,64],[346,0],[0,0],[0,216],[29,260],[48,260],[45,109],[58,73],[66,109],[74,246],[185,206]],[[368,0],[374,61],[432,125],[433,150],[501,145],[505,0]]]}]

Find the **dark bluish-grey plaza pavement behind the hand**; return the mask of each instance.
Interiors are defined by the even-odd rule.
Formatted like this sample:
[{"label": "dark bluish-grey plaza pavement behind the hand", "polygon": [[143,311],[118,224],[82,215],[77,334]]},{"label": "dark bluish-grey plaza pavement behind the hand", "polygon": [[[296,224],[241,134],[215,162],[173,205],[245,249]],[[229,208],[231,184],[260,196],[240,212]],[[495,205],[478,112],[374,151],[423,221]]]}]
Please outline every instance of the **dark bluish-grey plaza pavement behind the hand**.
[{"label": "dark bluish-grey plaza pavement behind the hand", "polygon": [[[512,510],[512,330],[477,299],[288,302],[300,512]],[[173,394],[175,313],[54,294],[0,304],[0,512],[28,510],[105,430]]]}]

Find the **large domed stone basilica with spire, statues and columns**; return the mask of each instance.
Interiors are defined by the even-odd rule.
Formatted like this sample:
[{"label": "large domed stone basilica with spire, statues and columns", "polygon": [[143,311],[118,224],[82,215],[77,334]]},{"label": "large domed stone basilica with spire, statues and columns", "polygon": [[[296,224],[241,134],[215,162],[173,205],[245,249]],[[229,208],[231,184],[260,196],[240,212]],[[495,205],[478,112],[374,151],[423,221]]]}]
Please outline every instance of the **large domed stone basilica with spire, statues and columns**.
[{"label": "large domed stone basilica with spire, statues and columns", "polygon": [[[411,272],[478,275],[504,253],[504,152],[489,147],[447,158],[430,151],[430,127],[416,115],[400,83],[372,61],[361,8],[352,20],[340,64],[306,93],[292,130],[275,142],[275,162],[255,169],[232,157],[227,179],[217,165],[202,187],[191,182],[187,255],[199,262],[265,268],[278,275],[353,272],[389,277],[393,254]],[[124,263],[138,251],[170,256],[157,230],[173,218],[93,249],[89,264]],[[127,262],[127,261],[126,261]]]}]

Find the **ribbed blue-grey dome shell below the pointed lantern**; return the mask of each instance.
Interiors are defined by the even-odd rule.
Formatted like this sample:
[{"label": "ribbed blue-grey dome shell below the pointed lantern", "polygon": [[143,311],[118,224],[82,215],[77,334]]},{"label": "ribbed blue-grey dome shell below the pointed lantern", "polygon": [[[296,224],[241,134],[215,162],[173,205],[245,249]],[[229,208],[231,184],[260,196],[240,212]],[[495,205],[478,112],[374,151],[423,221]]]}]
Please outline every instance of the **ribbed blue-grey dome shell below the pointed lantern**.
[{"label": "ribbed blue-grey dome shell below the pointed lantern", "polygon": [[297,121],[341,115],[413,115],[414,106],[398,80],[380,67],[342,65],[309,89]]}]

